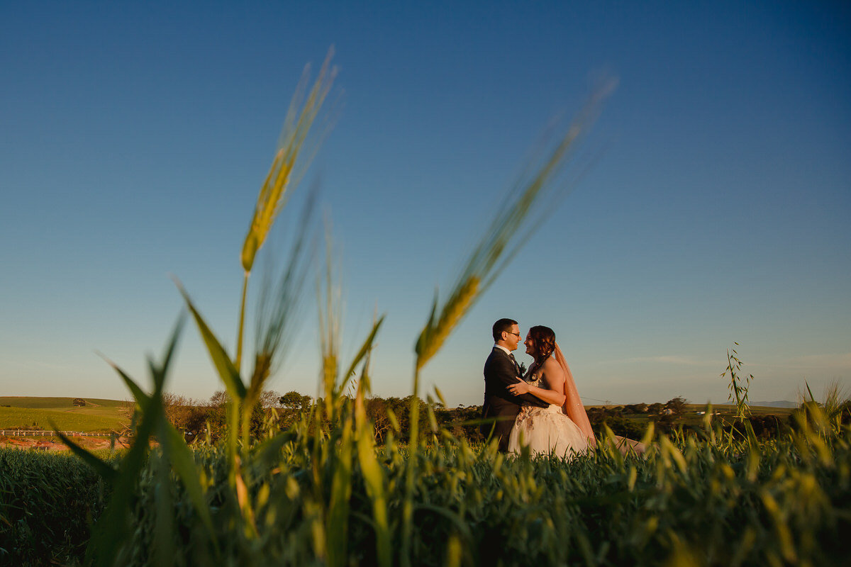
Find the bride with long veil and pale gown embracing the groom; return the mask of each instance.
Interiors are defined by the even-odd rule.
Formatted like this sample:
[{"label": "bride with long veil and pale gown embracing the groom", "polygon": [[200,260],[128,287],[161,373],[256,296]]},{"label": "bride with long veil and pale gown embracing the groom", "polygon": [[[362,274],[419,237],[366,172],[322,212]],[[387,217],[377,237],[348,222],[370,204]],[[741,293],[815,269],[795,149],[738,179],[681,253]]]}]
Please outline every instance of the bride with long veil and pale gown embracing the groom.
[{"label": "bride with long veil and pale gown embracing the groom", "polygon": [[552,452],[570,456],[596,445],[574,377],[556,343],[556,333],[547,326],[534,326],[523,344],[526,354],[534,357],[526,374],[529,381],[518,378],[508,389],[515,395],[532,394],[550,405],[523,403],[511,428],[508,451],[520,452],[521,446],[528,446],[533,455]]}]

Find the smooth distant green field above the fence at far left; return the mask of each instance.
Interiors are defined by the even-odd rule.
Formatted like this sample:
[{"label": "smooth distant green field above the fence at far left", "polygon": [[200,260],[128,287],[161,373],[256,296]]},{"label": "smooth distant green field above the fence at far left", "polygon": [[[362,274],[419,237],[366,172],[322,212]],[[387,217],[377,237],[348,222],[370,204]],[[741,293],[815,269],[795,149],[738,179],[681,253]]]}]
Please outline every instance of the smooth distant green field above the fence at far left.
[{"label": "smooth distant green field above the fence at far left", "polygon": [[62,431],[100,431],[121,429],[127,424],[119,408],[75,408],[74,410],[38,409],[0,406],[0,429],[52,429],[51,422]]}]

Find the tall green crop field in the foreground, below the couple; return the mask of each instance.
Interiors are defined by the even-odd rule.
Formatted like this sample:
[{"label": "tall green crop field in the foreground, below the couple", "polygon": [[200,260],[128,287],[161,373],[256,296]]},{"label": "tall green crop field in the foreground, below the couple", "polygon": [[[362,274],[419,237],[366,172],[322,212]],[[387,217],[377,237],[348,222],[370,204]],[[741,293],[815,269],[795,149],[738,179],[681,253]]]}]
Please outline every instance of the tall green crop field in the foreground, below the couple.
[{"label": "tall green crop field in the foreground, below the couple", "polygon": [[[92,553],[121,565],[846,564],[851,433],[809,417],[761,445],[708,429],[656,437],[644,459],[601,445],[570,461],[506,458],[445,432],[426,436],[415,458],[392,440],[365,454],[357,425],[346,451],[345,429],[311,434],[303,421],[245,452],[237,474],[225,446],[197,446],[182,471],[180,458],[153,452],[126,497],[113,497],[126,531],[105,524],[107,512]],[[94,472],[74,457],[12,450],[0,451],[0,468],[17,473],[0,477],[5,558],[43,564],[47,549],[61,563],[82,560],[81,526],[103,509]],[[71,494],[69,483],[85,490]]]}]

